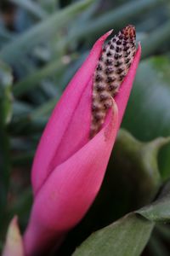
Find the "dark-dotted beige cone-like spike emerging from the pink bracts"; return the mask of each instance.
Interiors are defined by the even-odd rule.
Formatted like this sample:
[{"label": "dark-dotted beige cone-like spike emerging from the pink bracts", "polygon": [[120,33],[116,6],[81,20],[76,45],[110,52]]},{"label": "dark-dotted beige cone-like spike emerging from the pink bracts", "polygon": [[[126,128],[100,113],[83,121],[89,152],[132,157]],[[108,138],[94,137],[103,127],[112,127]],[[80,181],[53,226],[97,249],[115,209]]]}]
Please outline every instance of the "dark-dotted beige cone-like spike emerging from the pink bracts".
[{"label": "dark-dotted beige cone-like spike emerging from the pink bracts", "polygon": [[128,25],[105,44],[94,71],[92,123],[90,137],[94,137],[105,121],[136,52],[134,26]]}]

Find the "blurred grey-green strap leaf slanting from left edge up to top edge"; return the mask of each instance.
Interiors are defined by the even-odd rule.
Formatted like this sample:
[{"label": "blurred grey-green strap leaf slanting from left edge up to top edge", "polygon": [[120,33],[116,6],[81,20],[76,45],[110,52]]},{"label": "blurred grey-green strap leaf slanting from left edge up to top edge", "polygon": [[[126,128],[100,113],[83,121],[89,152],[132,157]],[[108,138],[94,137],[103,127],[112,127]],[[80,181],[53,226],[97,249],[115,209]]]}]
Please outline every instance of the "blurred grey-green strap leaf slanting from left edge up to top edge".
[{"label": "blurred grey-green strap leaf slanting from left edge up to top edge", "polygon": [[18,36],[13,42],[6,44],[0,51],[1,58],[9,63],[16,62],[19,55],[23,55],[34,45],[45,42],[47,38],[52,37],[59,30],[59,27],[65,25],[68,20],[88,8],[92,2],[93,0],[81,1],[57,11],[48,19],[43,20],[37,26],[33,26],[27,32]]}]

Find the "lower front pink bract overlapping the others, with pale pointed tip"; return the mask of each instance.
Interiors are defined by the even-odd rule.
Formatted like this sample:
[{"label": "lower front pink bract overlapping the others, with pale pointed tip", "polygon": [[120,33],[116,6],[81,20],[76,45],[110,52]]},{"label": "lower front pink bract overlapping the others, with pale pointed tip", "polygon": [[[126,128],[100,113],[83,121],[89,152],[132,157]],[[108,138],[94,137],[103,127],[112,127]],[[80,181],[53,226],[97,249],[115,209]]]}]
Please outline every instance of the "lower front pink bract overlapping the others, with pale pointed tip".
[{"label": "lower front pink bract overlapping the others, with pale pointed tip", "polygon": [[26,230],[26,255],[39,255],[71,230],[88,211],[105,175],[118,130],[114,103],[104,128],[54,169],[35,198]]}]

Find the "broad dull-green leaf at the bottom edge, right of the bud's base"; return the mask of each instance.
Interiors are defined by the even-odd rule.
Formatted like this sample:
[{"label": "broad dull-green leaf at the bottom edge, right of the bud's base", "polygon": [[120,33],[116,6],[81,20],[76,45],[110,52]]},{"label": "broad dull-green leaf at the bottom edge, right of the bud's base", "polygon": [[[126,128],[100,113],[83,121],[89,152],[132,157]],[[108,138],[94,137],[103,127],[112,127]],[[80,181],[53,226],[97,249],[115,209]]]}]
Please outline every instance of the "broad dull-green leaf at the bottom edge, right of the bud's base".
[{"label": "broad dull-green leaf at the bottom edge, right of the bud's base", "polygon": [[89,236],[72,255],[139,256],[150,238],[153,225],[130,213]]}]

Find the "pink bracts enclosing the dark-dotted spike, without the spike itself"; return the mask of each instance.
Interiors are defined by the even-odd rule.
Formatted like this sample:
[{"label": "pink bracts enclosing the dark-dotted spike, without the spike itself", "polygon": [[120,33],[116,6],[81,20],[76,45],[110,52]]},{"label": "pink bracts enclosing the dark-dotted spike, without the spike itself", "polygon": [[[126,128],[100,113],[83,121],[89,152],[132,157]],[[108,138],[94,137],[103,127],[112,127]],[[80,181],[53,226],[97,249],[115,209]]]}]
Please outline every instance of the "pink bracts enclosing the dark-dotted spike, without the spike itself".
[{"label": "pink bracts enclosing the dark-dotted spike, without the spike itself", "polygon": [[94,69],[111,32],[94,44],[42,134],[32,168],[34,203],[24,236],[26,256],[59,244],[88,211],[105,176],[141,53],[139,45],[103,128],[89,139]]}]

